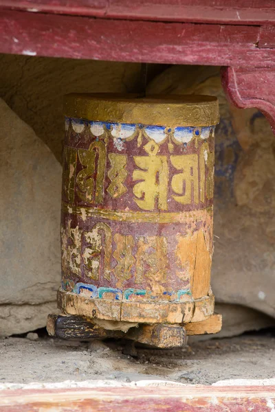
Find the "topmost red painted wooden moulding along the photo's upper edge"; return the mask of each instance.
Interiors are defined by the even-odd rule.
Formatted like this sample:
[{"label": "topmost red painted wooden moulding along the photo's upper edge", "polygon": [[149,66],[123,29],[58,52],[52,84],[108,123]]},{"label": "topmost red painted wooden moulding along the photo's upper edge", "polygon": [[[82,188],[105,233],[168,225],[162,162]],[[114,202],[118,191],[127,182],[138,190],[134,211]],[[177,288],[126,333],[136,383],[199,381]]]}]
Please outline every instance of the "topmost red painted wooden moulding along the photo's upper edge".
[{"label": "topmost red painted wooden moulding along the photo's upper edge", "polygon": [[111,19],[193,23],[275,23],[273,0],[0,0],[15,10]]}]

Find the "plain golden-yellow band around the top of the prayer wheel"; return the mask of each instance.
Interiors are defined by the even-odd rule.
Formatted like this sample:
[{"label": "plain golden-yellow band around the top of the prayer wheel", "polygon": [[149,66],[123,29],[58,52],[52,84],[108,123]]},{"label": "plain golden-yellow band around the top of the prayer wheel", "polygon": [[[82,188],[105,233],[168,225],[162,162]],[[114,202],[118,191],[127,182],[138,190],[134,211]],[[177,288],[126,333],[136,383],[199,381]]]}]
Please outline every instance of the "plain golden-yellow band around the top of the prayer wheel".
[{"label": "plain golden-yellow band around the top of the prayer wheel", "polygon": [[67,117],[96,122],[153,126],[214,126],[219,123],[219,103],[208,95],[109,95],[72,93],[65,95]]}]

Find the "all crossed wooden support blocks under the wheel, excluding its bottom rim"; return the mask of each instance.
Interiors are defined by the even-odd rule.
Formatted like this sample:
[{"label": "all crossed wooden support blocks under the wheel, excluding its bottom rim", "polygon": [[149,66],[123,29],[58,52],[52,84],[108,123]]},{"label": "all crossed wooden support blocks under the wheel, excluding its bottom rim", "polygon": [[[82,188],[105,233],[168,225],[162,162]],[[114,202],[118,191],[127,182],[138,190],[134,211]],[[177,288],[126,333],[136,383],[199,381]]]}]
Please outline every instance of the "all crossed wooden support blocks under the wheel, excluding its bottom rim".
[{"label": "all crossed wooden support blocks under the wheel, excluding its bottom rim", "polygon": [[181,325],[168,324],[139,324],[127,332],[120,330],[106,330],[92,319],[77,315],[49,314],[47,318],[47,332],[50,336],[59,339],[129,339],[162,349],[183,347],[186,345],[186,336],[195,334],[212,334],[221,330],[221,315],[212,314],[201,322],[183,323]]}]

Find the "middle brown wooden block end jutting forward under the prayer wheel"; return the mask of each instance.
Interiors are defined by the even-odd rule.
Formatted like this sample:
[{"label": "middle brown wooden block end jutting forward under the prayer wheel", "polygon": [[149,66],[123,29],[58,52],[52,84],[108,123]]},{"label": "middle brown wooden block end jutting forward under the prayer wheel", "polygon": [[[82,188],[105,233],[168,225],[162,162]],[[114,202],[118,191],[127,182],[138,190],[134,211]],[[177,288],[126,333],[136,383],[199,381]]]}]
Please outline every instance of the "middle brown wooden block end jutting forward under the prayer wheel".
[{"label": "middle brown wooden block end jutting forward under the prayer wheel", "polygon": [[166,349],[186,345],[186,331],[180,325],[140,325],[131,328],[125,338]]}]

